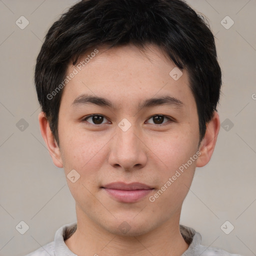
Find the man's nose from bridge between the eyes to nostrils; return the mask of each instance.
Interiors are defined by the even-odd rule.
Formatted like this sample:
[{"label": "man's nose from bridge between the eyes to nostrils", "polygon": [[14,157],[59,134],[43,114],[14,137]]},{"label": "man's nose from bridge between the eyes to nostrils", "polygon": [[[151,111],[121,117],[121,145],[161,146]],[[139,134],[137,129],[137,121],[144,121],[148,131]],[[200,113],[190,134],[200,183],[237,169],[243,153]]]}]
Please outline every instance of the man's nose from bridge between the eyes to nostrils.
[{"label": "man's nose from bridge between the eyes to nostrils", "polygon": [[110,144],[108,162],[123,170],[140,169],[147,161],[146,141],[143,141],[135,124],[124,131],[116,126],[116,133]]}]

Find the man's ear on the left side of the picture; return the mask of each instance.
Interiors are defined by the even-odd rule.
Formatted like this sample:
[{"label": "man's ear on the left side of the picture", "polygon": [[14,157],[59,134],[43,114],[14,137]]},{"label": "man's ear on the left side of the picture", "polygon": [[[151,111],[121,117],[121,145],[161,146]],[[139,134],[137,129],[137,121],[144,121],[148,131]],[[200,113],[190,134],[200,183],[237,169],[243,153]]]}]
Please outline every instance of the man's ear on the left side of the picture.
[{"label": "man's ear on the left side of the picture", "polygon": [[38,115],[38,121],[40,126],[41,135],[43,137],[43,140],[48,148],[48,151],[50,153],[50,156],[52,158],[53,163],[59,167],[63,167],[62,159],[60,150],[58,147],[58,144],[50,130],[49,122],[47,118],[45,117],[44,112],[40,112]]}]

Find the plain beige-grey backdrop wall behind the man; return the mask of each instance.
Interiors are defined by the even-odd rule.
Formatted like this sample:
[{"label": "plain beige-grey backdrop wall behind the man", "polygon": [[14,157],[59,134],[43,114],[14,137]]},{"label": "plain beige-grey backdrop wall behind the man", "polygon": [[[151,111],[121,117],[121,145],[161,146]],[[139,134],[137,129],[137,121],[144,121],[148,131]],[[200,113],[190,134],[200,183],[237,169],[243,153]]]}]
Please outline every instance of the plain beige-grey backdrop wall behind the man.
[{"label": "plain beige-grey backdrop wall behind the man", "polygon": [[[1,256],[25,255],[76,220],[63,170],[53,165],[40,135],[33,84],[46,31],[74,2],[0,0]],[[228,118],[229,124],[220,129],[210,163],[196,170],[181,223],[199,231],[204,245],[256,255],[256,0],[187,2],[208,17],[216,36],[223,72],[218,109],[221,122]],[[24,29],[15,24],[21,15],[29,21]],[[226,15],[234,21],[229,29],[220,23]],[[28,123],[23,131],[16,126],[21,118]],[[15,229],[21,220],[29,226],[23,235]],[[226,220],[234,226],[229,234],[220,228]]]}]

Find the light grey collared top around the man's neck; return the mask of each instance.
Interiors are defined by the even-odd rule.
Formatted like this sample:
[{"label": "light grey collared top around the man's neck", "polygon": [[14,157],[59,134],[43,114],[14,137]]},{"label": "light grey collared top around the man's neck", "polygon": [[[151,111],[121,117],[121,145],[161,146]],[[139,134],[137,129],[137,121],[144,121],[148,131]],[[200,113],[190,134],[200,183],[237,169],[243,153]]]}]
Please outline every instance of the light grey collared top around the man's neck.
[{"label": "light grey collared top around the man's neck", "polygon": [[[201,245],[201,235],[193,228],[179,225],[180,233],[189,244],[188,249],[181,256],[241,256],[224,250]],[[76,230],[76,222],[61,226],[55,233],[54,241],[38,248],[26,256],[77,256],[66,246],[64,240]],[[100,253],[99,253],[100,254]]]}]

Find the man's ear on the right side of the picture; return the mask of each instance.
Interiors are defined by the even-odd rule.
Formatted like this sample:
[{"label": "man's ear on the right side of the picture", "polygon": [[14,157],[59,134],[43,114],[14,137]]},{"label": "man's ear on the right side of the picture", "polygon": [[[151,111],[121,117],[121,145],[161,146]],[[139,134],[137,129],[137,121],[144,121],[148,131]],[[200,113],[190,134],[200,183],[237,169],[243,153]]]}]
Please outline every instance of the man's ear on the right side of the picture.
[{"label": "man's ear on the right side of the picture", "polygon": [[202,167],[209,162],[217,141],[219,127],[219,115],[215,111],[212,119],[206,123],[205,135],[199,146],[201,154],[197,158],[196,167]]}]

